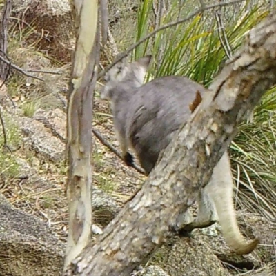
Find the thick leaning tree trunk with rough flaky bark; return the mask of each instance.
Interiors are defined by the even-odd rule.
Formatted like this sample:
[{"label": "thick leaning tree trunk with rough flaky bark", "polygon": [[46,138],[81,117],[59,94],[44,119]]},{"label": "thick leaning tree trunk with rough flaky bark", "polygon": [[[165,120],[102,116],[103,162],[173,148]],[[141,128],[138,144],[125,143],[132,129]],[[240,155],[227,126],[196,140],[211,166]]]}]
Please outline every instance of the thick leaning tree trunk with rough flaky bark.
[{"label": "thick leaning tree trunk with rough flaky bark", "polygon": [[155,246],[205,186],[215,164],[264,92],[276,83],[276,13],[246,37],[210,86],[199,108],[164,150],[135,197],[83,250],[65,275],[126,276]]}]

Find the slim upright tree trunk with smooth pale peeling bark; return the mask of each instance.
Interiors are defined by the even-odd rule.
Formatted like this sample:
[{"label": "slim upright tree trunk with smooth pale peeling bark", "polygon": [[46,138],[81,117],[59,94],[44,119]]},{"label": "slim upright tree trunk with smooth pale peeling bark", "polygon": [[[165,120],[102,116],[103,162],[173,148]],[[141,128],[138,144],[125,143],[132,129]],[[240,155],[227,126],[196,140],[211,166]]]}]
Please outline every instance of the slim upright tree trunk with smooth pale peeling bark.
[{"label": "slim upright tree trunk with smooth pale peeling bark", "polygon": [[98,0],[75,0],[77,41],[68,91],[69,233],[64,269],[91,237],[92,95],[99,63]]}]

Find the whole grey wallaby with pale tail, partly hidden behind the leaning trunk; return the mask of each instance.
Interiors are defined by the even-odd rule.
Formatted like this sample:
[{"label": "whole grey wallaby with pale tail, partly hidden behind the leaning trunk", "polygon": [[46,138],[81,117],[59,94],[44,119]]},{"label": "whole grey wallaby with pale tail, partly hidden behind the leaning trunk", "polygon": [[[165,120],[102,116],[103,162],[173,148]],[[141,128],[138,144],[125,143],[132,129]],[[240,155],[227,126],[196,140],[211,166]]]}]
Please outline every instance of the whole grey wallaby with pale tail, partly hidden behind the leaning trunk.
[{"label": "whole grey wallaby with pale tail, partly hidden behind the leaning trunk", "polygon": [[[151,56],[117,63],[106,75],[101,98],[111,103],[115,132],[126,164],[132,163],[128,148],[137,155],[148,175],[161,150],[191,115],[190,103],[206,88],[186,77],[169,76],[143,84]],[[233,205],[233,181],[228,153],[219,160],[208,185],[199,192],[197,218],[185,214],[184,230],[204,228],[219,221],[228,246],[248,254],[259,240],[246,242],[237,225]]]}]

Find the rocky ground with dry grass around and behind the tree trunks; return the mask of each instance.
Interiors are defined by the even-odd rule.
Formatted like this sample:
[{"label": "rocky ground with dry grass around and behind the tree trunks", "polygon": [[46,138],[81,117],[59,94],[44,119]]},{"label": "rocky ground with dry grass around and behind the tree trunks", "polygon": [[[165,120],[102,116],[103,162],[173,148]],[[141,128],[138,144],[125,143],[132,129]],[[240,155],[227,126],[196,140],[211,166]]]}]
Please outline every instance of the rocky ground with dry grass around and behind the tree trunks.
[{"label": "rocky ground with dry grass around and behind the tree trunks", "polygon": [[[39,6],[39,1],[26,1],[28,12],[18,10],[17,16],[24,15],[26,22],[32,22],[33,14],[37,18],[43,14],[45,18],[40,21],[43,28],[55,22],[52,26],[55,29],[63,22],[66,30],[70,21],[68,1],[60,1],[64,5],[58,8],[56,2],[43,2],[48,5],[47,10],[52,8],[46,14],[41,12],[45,7]],[[40,31],[41,25],[37,25],[37,32]],[[12,61],[24,70],[43,70],[32,75],[46,81],[42,83],[12,71],[7,89],[5,86],[0,89],[1,117],[7,136],[0,157],[0,275],[59,275],[68,233],[64,157],[68,61],[72,50],[68,38],[72,38],[72,29],[63,36],[57,35],[59,39],[50,37],[51,44],[46,43],[49,39],[46,35],[34,43],[36,32],[25,35],[23,40],[16,34],[12,32],[10,40]],[[55,59],[46,58],[49,49]],[[99,86],[97,83],[97,91]],[[110,108],[99,99],[97,91],[93,128],[118,150]],[[1,143],[4,141],[2,135]],[[126,167],[95,136],[92,156],[93,218],[95,225],[103,229],[145,177]],[[230,253],[215,224],[195,230],[192,238],[168,240],[143,264],[146,268],[132,275],[276,275],[275,224],[256,214],[239,212],[238,215],[244,235],[261,238],[253,254],[237,257]]]}]

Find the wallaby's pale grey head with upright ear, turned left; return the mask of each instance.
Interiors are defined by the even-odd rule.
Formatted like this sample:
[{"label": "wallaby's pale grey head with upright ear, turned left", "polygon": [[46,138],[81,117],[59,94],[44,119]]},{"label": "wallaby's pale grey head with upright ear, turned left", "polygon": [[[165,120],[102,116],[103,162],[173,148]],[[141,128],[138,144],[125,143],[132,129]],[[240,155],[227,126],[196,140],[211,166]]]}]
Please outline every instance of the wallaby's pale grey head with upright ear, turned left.
[{"label": "wallaby's pale grey head with upright ear, turned left", "polygon": [[152,55],[146,55],[137,61],[128,62],[125,58],[115,64],[104,77],[106,85],[101,90],[101,99],[112,99],[112,90],[119,85],[141,86],[151,59]]}]

